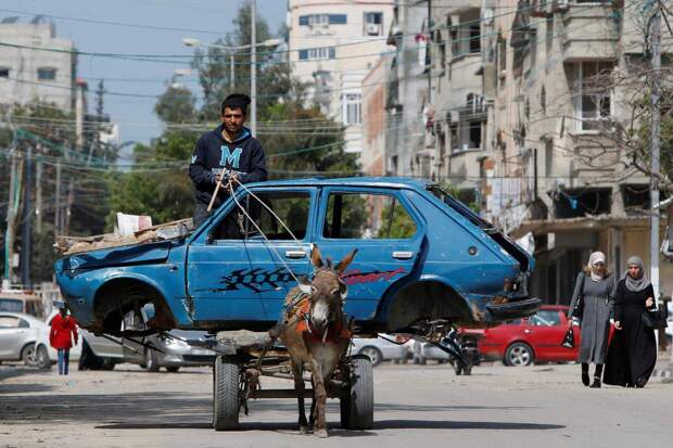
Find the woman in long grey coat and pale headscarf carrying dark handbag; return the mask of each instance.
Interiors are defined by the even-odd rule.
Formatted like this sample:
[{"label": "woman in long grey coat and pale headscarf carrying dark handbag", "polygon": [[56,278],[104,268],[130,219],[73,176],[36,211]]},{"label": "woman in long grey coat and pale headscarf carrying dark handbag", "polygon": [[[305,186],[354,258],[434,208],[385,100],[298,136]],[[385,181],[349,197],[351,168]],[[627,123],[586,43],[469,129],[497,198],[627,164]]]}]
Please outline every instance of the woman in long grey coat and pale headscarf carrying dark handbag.
[{"label": "woman in long grey coat and pale headscarf carrying dark handbag", "polygon": [[589,363],[596,364],[591,387],[600,387],[602,364],[608,353],[610,313],[614,297],[614,278],[606,266],[602,252],[594,252],[586,267],[577,274],[570,302],[570,324],[581,324],[579,361],[582,363],[582,383],[589,385]]}]

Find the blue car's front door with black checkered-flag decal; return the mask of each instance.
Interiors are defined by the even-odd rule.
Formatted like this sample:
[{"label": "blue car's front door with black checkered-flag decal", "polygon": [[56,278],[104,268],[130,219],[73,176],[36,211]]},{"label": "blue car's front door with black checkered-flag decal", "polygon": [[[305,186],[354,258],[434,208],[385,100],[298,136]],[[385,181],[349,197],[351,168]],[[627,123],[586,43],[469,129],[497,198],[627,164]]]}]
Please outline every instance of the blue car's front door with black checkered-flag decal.
[{"label": "blue car's front door with black checkered-flag decal", "polygon": [[188,291],[198,321],[275,321],[294,277],[308,274],[317,190],[250,191],[239,190],[238,204],[229,200],[189,245]]}]

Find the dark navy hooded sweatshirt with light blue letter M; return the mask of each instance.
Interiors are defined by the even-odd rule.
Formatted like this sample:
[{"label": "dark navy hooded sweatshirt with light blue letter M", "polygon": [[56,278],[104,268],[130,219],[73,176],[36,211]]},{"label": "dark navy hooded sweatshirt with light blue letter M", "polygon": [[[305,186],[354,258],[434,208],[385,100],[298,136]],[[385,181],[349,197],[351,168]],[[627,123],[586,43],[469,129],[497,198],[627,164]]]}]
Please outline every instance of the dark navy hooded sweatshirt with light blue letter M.
[{"label": "dark navy hooded sweatshirt with light blue letter M", "polygon": [[[267,178],[264,149],[252,137],[250,129],[243,128],[230,143],[223,137],[223,126],[201,136],[189,165],[189,177],[196,189],[196,202],[201,204],[207,205],[211,202],[217,184],[215,176],[223,171],[238,174],[241,183],[259,182]],[[224,189],[220,190],[213,206],[219,207],[227,194]]]}]

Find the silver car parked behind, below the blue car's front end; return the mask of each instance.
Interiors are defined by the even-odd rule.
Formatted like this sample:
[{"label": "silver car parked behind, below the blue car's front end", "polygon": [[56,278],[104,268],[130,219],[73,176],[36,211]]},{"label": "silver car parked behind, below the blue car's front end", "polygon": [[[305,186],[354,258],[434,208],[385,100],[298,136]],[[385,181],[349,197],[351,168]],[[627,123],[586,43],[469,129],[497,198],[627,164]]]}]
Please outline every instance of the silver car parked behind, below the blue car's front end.
[{"label": "silver car parked behind, below the blue car's front end", "polygon": [[212,366],[215,360],[215,353],[203,347],[212,338],[204,331],[172,330],[138,340],[105,338],[82,331],[82,337],[80,369],[111,370],[116,363],[130,362],[150,372],[162,367],[177,372],[181,367]]}]

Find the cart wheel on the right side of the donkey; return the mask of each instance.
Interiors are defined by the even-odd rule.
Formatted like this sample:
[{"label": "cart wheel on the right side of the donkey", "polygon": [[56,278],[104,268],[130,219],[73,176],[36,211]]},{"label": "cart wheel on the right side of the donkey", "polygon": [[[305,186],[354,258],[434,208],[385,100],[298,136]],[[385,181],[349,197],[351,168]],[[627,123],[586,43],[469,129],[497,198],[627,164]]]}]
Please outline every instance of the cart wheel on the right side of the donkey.
[{"label": "cart wheel on the right side of the donkey", "polygon": [[341,426],[347,430],[370,430],[373,426],[373,374],[367,355],[351,357],[353,371],[348,385],[341,393]]}]

